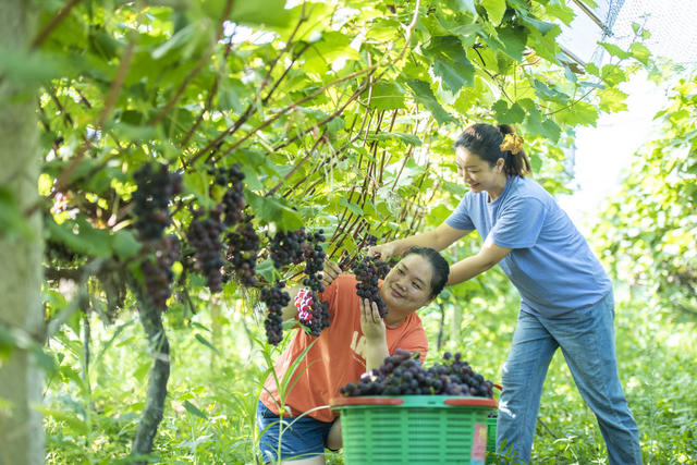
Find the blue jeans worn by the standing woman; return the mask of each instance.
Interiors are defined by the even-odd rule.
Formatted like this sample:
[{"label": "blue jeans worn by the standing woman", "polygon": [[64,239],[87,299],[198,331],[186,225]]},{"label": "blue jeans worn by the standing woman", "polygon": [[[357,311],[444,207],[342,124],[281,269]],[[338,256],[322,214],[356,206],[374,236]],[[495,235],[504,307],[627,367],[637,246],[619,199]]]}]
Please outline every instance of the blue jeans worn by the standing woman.
[{"label": "blue jeans worn by the standing woman", "polygon": [[638,428],[617,375],[613,321],[612,291],[572,318],[519,313],[502,369],[497,451],[505,453],[512,448],[519,461],[529,462],[542,383],[554,352],[561,347],[578,391],[598,419],[610,465],[641,463]]}]

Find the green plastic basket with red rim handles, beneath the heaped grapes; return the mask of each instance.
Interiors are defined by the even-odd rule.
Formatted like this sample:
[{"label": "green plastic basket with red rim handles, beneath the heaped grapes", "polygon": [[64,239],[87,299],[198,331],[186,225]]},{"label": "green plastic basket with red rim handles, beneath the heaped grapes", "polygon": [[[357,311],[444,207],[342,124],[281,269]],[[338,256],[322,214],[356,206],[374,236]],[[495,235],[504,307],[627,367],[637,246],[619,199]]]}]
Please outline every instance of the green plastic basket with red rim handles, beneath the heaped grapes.
[{"label": "green plastic basket with red rim handles, beneath the heaped grapes", "polygon": [[486,397],[403,395],[338,397],[344,463],[484,465]]}]

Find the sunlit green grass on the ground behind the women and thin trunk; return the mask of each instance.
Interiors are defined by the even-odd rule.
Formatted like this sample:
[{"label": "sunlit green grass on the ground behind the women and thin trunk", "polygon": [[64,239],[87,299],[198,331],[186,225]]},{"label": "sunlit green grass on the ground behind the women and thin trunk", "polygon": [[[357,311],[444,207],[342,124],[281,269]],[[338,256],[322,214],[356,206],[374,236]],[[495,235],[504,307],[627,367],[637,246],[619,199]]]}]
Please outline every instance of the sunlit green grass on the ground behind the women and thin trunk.
[{"label": "sunlit green grass on the ground behind the women and thin trunk", "polygon": [[[616,343],[625,394],[639,425],[646,464],[695,464],[697,460],[697,343],[695,323],[676,323],[644,299],[623,296],[616,310]],[[510,298],[474,301],[458,328],[447,309],[440,352],[437,306],[424,310],[431,352],[462,352],[486,378],[500,381],[515,323]],[[188,323],[176,315],[166,321],[171,344],[171,376],[164,419],[151,463],[256,463],[255,411],[270,347],[254,338],[257,326],[239,308],[200,313]],[[143,331],[133,316],[105,328],[93,321],[89,386],[83,381],[83,346],[72,330],[51,341],[61,359],[46,389],[46,463],[127,462],[131,441],[145,402],[148,368]],[[215,321],[212,320],[215,319]],[[119,325],[125,325],[119,330]],[[260,329],[261,328],[261,329]],[[280,348],[273,348],[276,358]],[[342,464],[342,453],[328,463]],[[582,401],[563,357],[552,360],[545,383],[531,463],[607,463],[592,413]]]}]

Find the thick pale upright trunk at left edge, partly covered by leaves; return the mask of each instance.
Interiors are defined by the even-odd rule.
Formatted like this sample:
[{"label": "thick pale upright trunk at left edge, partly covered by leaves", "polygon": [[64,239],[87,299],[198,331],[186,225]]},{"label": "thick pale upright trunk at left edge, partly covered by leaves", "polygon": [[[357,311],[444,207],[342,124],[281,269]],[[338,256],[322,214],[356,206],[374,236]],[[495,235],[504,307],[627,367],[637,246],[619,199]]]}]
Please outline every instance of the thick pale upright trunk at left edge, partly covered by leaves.
[{"label": "thick pale upright trunk at left edge, partly covered by leaves", "polygon": [[[28,53],[36,20],[32,3],[0,2],[0,48]],[[0,188],[27,211],[38,201],[36,97],[0,75]],[[32,341],[44,343],[41,218],[36,212],[25,220],[29,233],[0,231],[0,327],[24,340],[0,358],[0,465],[45,462],[42,420],[34,408],[41,402],[42,372],[30,352]]]}]

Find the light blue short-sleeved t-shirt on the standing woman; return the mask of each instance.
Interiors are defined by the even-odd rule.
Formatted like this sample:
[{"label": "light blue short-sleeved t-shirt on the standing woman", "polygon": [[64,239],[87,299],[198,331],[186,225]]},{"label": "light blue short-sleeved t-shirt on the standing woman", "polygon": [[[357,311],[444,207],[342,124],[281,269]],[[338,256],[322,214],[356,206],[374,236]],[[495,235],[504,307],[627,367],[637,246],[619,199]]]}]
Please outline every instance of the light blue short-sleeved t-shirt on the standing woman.
[{"label": "light blue short-sleeved t-shirt on the standing woman", "polygon": [[501,195],[467,193],[445,220],[512,248],[499,265],[521,293],[521,308],[547,318],[586,311],[612,282],[584,236],[538,183],[509,176]]}]

